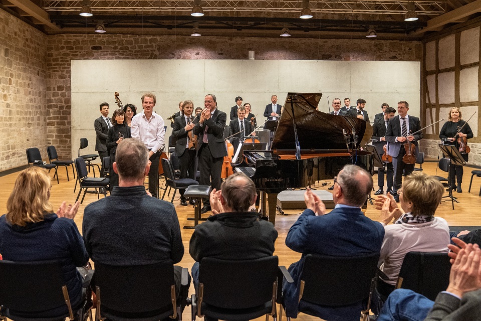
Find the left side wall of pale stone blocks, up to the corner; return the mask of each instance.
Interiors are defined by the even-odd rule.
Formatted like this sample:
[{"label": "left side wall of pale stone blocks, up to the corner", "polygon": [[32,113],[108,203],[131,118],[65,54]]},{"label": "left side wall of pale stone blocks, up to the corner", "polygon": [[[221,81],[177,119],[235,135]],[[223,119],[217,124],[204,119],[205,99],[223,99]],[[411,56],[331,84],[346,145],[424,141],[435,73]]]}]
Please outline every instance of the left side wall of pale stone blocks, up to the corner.
[{"label": "left side wall of pale stone blocks, up to the corner", "polygon": [[47,36],[0,10],[0,172],[27,165],[26,148],[47,158]]}]

